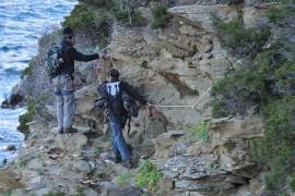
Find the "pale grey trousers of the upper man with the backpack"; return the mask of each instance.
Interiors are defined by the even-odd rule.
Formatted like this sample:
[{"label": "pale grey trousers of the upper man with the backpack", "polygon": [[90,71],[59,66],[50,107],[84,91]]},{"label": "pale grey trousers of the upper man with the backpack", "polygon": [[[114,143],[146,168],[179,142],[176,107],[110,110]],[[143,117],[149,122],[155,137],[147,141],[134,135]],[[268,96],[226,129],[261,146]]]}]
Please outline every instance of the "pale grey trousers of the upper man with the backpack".
[{"label": "pale grey trousers of the upper man with the backpack", "polygon": [[52,78],[57,103],[58,128],[66,130],[74,122],[74,85],[69,75],[58,75]]}]

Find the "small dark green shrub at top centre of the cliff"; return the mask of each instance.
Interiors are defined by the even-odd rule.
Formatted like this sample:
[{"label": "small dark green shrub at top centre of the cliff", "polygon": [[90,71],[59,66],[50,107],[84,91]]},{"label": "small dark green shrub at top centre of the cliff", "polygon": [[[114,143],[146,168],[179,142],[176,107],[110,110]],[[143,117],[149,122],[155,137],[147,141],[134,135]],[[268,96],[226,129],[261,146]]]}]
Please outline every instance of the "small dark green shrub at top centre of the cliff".
[{"label": "small dark green shrub at top centre of the cliff", "polygon": [[152,10],[154,21],[152,23],[152,28],[164,28],[169,23],[172,16],[167,12],[166,7],[156,7]]}]

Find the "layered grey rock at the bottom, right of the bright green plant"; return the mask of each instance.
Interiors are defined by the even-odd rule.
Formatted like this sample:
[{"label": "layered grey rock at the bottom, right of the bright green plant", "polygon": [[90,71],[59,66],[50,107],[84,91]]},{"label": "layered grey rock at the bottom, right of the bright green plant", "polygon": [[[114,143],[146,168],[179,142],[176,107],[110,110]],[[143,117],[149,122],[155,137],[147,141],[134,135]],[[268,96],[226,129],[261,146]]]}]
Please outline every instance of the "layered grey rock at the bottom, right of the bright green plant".
[{"label": "layered grey rock at the bottom, right of the bright green plant", "polygon": [[[248,171],[249,168],[243,168]],[[246,185],[248,177],[241,173],[233,174],[219,164],[219,156],[177,156],[169,159],[162,170],[170,182],[175,181],[174,193],[196,192],[204,195],[232,193],[237,186]],[[253,176],[251,176],[253,177]]]}]

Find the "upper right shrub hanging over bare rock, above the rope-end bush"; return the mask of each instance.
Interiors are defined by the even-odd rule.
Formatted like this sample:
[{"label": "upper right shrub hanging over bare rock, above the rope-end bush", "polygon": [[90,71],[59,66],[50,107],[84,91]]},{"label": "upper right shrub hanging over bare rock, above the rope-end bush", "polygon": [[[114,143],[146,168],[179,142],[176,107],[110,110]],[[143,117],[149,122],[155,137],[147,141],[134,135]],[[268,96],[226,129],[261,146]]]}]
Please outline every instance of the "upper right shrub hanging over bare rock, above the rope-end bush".
[{"label": "upper right shrub hanging over bare rock, above the rope-end bush", "polygon": [[237,58],[255,56],[270,37],[269,27],[246,28],[243,17],[236,17],[226,23],[212,14],[212,20],[222,47]]}]

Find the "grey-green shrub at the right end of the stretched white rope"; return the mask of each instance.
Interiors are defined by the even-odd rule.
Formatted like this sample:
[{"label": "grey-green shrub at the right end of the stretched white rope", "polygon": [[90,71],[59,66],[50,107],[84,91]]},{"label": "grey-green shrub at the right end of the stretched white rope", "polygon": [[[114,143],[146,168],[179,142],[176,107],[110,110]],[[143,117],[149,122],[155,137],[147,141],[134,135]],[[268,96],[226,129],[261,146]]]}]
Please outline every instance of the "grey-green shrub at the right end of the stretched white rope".
[{"label": "grey-green shrub at the right end of the stretched white rope", "polygon": [[257,72],[240,69],[216,82],[212,89],[212,115],[245,115],[247,110],[261,102],[264,90],[263,77]]}]

